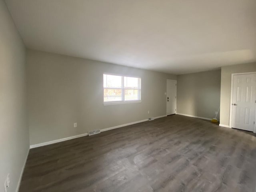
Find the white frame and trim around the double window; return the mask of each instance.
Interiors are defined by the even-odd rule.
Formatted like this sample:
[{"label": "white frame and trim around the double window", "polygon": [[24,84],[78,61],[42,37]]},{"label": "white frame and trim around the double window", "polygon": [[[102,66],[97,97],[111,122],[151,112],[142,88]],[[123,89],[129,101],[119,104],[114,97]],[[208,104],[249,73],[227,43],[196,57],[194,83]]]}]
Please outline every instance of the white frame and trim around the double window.
[{"label": "white frame and trim around the double window", "polygon": [[[104,75],[116,75],[116,76],[121,76],[122,77],[122,101],[107,101],[104,102],[104,96],[103,96],[103,105],[118,105],[118,104],[129,104],[129,103],[141,103],[141,77],[138,76],[127,76],[127,75],[120,75],[120,74],[111,74],[111,73],[103,73]],[[124,100],[124,77],[134,77],[134,78],[140,78],[140,100],[132,100],[132,101],[125,101]],[[103,80],[104,82],[104,80]],[[105,87],[103,84],[103,91]]]}]

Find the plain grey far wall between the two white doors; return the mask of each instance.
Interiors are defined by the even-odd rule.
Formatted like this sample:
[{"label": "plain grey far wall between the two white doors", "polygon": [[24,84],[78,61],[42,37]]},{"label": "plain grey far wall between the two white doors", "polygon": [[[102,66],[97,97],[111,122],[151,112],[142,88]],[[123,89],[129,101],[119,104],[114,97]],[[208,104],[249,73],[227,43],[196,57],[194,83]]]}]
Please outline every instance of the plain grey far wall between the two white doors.
[{"label": "plain grey far wall between the two white doors", "polygon": [[220,107],[220,70],[178,75],[177,79],[177,113],[214,118]]}]

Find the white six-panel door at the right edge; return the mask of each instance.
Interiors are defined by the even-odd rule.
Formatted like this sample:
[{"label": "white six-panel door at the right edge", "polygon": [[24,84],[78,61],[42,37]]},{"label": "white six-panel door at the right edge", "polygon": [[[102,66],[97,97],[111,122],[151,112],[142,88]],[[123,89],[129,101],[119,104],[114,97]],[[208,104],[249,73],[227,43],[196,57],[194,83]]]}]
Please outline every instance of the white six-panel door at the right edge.
[{"label": "white six-panel door at the right edge", "polygon": [[254,131],[256,74],[234,75],[232,128]]}]

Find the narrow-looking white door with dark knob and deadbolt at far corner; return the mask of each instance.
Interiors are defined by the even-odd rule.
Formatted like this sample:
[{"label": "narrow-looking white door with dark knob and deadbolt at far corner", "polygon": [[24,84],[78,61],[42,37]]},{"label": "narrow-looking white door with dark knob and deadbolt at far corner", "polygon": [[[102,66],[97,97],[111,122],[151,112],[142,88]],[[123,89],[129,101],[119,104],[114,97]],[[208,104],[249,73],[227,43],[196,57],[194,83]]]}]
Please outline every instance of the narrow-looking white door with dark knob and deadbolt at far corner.
[{"label": "narrow-looking white door with dark knob and deadbolt at far corner", "polygon": [[177,81],[167,80],[167,94],[166,94],[166,114],[176,114],[177,105]]}]

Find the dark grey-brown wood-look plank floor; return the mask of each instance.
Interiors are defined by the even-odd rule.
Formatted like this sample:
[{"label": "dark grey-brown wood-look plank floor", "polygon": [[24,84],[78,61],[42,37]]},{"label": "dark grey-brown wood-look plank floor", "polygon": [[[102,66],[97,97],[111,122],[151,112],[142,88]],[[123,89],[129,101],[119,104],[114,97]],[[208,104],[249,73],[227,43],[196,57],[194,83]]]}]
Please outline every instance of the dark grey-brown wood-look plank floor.
[{"label": "dark grey-brown wood-look plank floor", "polygon": [[20,192],[254,192],[255,134],[172,115],[30,150]]}]

